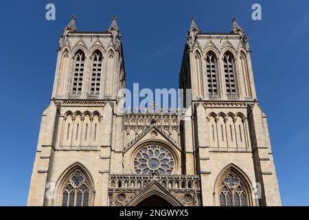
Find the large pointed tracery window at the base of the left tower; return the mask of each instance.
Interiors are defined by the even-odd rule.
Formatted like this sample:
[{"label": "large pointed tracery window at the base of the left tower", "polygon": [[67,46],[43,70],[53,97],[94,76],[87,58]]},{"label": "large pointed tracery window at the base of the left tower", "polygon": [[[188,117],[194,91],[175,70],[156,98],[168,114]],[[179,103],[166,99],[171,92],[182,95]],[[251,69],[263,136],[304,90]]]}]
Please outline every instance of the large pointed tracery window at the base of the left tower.
[{"label": "large pointed tracery window at the base of the left tower", "polygon": [[65,179],[61,189],[62,206],[89,206],[91,187],[87,175],[82,170],[74,170]]}]

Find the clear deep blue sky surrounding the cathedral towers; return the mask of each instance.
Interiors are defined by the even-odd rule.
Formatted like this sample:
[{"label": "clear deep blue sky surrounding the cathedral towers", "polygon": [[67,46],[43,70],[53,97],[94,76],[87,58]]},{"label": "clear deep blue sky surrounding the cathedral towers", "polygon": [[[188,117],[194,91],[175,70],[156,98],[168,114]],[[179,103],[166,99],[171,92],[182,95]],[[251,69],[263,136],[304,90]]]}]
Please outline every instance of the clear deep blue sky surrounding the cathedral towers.
[{"label": "clear deep blue sky surrounding the cathedral towers", "polygon": [[[56,21],[45,5],[56,5]],[[262,5],[262,21],[251,5]],[[308,206],[309,1],[1,1],[0,206],[25,206],[41,113],[52,94],[56,48],[76,14],[78,30],[104,31],[116,14],[126,85],[175,88],[193,16],[203,32],[229,32],[231,18],[249,35],[260,105],[268,115],[285,206]],[[162,80],[164,78],[164,80]]]}]

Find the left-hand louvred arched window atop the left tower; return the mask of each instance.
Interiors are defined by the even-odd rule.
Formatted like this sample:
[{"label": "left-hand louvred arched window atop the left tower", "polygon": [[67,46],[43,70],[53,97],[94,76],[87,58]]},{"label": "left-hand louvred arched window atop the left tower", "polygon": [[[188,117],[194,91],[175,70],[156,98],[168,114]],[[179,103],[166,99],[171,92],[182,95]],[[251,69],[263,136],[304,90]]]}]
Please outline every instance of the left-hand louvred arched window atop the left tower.
[{"label": "left-hand louvred arched window atop the left tower", "polygon": [[79,50],[74,58],[73,94],[82,93],[82,78],[84,76],[84,52]]}]

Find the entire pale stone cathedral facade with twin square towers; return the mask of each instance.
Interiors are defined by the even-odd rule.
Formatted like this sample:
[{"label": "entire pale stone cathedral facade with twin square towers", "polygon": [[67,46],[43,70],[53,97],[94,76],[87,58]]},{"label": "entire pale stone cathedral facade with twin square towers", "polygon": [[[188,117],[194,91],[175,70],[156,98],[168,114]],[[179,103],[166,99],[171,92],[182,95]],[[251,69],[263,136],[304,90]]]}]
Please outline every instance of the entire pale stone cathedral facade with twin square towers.
[{"label": "entire pale stone cathedral facade with twin square towers", "polygon": [[281,206],[266,115],[258,104],[248,36],[202,32],[192,19],[178,111],[118,109],[125,87],[116,18],[81,32],[75,17],[58,47],[43,111],[28,206]]}]

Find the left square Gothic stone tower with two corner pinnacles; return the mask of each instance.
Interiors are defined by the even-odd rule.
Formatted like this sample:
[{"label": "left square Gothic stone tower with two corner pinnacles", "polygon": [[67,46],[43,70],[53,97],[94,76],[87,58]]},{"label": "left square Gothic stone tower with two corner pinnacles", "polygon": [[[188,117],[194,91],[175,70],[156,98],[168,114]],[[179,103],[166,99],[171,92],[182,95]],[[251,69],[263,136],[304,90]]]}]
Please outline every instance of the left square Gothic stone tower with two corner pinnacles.
[{"label": "left square Gothic stone tower with two corner pinnacles", "polygon": [[[79,32],[74,16],[63,30],[52,99],[42,114],[29,206],[108,205],[108,175],[122,169],[121,159],[110,166],[122,157],[123,145],[123,117],[116,112],[117,91],[125,80],[120,39],[116,17],[106,32]],[[67,184],[70,177],[82,181]],[[58,195],[52,195],[54,190]]]}]

